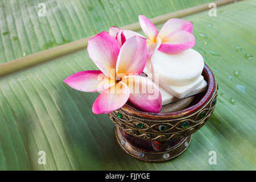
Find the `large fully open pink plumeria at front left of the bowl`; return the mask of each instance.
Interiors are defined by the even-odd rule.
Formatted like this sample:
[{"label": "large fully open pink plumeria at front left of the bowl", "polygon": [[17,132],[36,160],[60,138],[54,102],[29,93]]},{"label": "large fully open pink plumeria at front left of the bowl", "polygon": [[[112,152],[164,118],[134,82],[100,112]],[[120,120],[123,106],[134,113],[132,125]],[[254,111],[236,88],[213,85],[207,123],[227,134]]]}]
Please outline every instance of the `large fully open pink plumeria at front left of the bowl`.
[{"label": "large fully open pink plumeria at front left of the bowl", "polygon": [[[100,70],[75,73],[64,82],[83,92],[101,92],[92,107],[94,114],[111,113],[128,100],[142,111],[158,113],[162,109],[158,86],[146,77],[138,76],[146,64],[146,39],[133,36],[121,47],[108,32],[101,32],[88,41],[87,50]],[[134,92],[136,86],[151,88],[157,96]]]}]

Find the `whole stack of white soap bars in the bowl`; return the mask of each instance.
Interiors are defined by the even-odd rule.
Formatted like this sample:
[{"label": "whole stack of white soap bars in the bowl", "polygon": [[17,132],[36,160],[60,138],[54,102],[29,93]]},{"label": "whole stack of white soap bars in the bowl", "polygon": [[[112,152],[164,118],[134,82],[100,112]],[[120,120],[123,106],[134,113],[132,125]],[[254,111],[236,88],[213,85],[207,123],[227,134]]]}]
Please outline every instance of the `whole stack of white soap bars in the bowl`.
[{"label": "whole stack of white soap bars in the bowl", "polygon": [[203,92],[207,88],[201,76],[203,68],[203,57],[193,49],[177,53],[155,51],[147,60],[144,73],[159,81],[162,105],[166,105]]}]

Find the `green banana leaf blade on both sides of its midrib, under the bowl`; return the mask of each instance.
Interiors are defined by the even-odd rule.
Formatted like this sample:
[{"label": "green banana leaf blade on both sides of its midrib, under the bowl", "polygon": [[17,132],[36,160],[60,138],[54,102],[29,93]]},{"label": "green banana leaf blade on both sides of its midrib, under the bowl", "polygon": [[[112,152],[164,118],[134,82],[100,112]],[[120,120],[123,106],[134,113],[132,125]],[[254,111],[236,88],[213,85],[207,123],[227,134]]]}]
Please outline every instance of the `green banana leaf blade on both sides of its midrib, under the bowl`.
[{"label": "green banana leaf blade on both sides of its midrib, under the bowl", "polygon": [[[39,18],[40,2],[0,1],[0,63],[137,22],[138,14],[151,18],[209,1],[44,1],[48,14]],[[84,49],[0,78],[0,169],[255,170],[255,16],[256,1],[246,0],[217,7],[216,17],[184,17],[219,90],[212,117],[179,158],[150,164],[122,151],[108,115],[92,113],[98,94],[63,82],[97,69]],[[46,164],[38,163],[39,151]],[[217,164],[209,164],[210,151]]]}]

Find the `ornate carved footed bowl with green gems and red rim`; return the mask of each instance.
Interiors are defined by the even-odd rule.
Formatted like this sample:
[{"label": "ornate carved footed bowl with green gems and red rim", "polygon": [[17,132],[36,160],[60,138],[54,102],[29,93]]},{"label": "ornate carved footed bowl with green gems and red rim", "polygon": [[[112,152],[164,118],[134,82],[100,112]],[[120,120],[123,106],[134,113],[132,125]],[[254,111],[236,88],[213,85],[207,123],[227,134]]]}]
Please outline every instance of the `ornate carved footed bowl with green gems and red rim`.
[{"label": "ornate carved footed bowl with green gems and red rim", "polygon": [[109,114],[115,123],[115,135],[121,148],[144,162],[167,162],[181,155],[192,134],[205,125],[217,101],[217,85],[210,68],[202,75],[207,90],[197,94],[183,110],[172,113],[147,113],[127,103]]}]

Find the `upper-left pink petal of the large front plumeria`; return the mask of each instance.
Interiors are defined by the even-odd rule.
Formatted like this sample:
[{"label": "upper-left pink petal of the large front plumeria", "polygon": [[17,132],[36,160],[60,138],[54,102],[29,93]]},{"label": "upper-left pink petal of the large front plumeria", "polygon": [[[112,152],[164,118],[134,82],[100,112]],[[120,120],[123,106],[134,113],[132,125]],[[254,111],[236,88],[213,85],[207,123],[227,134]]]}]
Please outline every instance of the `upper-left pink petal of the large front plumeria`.
[{"label": "upper-left pink petal of the large front plumeria", "polygon": [[106,75],[110,76],[110,69],[115,69],[115,64],[120,51],[117,40],[108,32],[101,32],[88,40],[87,47],[90,59]]}]

